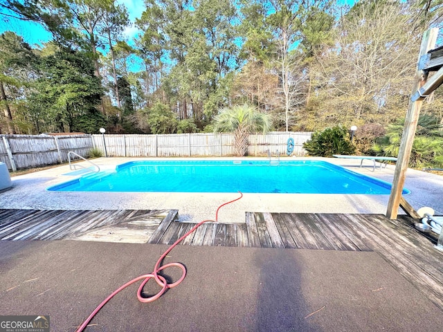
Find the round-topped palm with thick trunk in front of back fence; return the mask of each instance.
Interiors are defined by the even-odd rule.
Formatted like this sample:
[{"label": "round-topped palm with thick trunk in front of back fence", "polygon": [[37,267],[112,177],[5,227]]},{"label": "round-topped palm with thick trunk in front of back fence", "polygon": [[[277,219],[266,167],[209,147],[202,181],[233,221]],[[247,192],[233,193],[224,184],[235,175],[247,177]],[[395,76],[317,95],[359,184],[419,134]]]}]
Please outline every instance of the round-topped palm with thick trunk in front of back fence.
[{"label": "round-topped palm with thick trunk in front of back fence", "polygon": [[271,118],[248,104],[219,109],[215,116],[213,131],[234,133],[234,152],[236,156],[246,156],[249,133],[266,133],[271,128]]}]

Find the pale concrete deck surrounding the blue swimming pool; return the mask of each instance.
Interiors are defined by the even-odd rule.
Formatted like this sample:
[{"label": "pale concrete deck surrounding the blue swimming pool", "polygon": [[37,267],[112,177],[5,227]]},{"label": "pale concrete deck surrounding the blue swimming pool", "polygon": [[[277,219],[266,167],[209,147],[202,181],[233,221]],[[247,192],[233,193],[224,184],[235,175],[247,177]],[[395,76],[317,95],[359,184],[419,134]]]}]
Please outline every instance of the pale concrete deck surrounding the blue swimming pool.
[{"label": "pale concrete deck surrounding the blue swimming pool", "polygon": [[[93,160],[104,169],[132,160],[153,158],[97,158]],[[171,158],[156,158],[170,160]],[[191,158],[186,158],[190,160]],[[236,160],[239,158],[192,158],[195,160]],[[251,158],[251,160],[266,158]],[[286,158],[285,158],[286,159]],[[174,158],[178,160],[178,158]],[[339,158],[291,158],[291,160],[325,160],[341,165],[354,172],[392,182],[395,165],[375,169],[368,163],[359,167],[360,160]],[[87,165],[82,162],[82,165]],[[179,210],[180,221],[215,219],[215,211],[222,203],[236,199],[235,193],[174,193],[174,192],[48,192],[47,187],[69,181],[75,176],[69,165],[62,165],[20,176],[12,176],[12,187],[0,192],[2,209],[42,210],[117,210],[149,209]],[[405,187],[410,190],[406,200],[415,210],[429,206],[435,214],[443,214],[443,176],[408,169]],[[371,213],[385,214],[389,195],[363,194],[244,194],[235,203],[224,206],[219,212],[219,221],[224,223],[244,222],[245,212],[316,212],[316,213]],[[402,210],[399,213],[403,214]]]}]

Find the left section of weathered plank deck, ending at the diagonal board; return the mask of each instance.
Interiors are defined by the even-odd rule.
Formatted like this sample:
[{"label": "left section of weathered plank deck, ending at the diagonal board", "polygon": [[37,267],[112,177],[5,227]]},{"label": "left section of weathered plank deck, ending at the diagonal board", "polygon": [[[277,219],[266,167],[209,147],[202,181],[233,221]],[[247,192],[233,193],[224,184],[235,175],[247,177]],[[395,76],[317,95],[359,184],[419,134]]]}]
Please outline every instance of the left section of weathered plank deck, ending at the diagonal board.
[{"label": "left section of weathered plank deck, ending at the diagonal board", "polygon": [[0,240],[146,243],[177,210],[0,210]]}]

